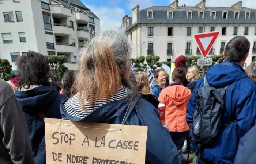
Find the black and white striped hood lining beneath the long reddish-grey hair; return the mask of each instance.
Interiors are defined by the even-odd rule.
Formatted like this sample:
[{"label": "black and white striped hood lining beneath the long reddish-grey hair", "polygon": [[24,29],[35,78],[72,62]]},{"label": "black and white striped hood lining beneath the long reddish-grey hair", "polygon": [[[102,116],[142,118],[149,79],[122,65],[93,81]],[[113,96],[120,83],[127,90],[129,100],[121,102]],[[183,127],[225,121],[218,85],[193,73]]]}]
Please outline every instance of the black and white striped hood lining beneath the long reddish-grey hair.
[{"label": "black and white striped hood lining beneath the long reddish-grey hair", "polygon": [[121,86],[116,93],[112,94],[109,99],[98,99],[95,101],[95,104],[89,104],[88,99],[85,100],[84,106],[86,107],[87,111],[83,110],[81,104],[79,102],[79,93],[75,94],[74,97],[70,98],[65,104],[63,105],[63,110],[65,110],[69,115],[77,117],[77,118],[84,118],[93,110],[99,108],[102,105],[105,105],[109,102],[121,100],[132,92],[127,87]]}]

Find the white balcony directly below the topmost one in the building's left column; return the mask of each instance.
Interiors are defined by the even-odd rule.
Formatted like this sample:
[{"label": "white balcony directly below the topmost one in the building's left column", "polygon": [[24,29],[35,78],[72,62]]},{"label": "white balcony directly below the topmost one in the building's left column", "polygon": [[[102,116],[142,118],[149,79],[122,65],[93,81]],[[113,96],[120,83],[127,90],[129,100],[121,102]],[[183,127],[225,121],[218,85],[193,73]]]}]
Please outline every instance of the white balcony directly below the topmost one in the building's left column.
[{"label": "white balcony directly below the topmost one in the building's left column", "polygon": [[73,35],[74,30],[66,24],[53,24],[53,32],[56,36],[69,36]]}]

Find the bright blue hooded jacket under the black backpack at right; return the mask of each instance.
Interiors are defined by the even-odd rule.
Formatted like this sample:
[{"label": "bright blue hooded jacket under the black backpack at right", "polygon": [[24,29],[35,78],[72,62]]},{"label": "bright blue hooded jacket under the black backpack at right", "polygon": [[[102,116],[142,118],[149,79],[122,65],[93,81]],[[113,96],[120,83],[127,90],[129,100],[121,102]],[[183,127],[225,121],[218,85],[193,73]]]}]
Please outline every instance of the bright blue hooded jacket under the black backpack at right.
[{"label": "bright blue hooded jacket under the black backpack at right", "polygon": [[[256,85],[248,78],[245,70],[234,62],[224,61],[210,67],[206,75],[210,85],[225,87],[225,113],[223,122],[231,124],[218,134],[216,140],[202,146],[204,163],[233,164],[238,142],[254,125],[256,118]],[[203,86],[204,78],[195,86],[187,108],[187,122],[192,124],[195,109],[195,91]],[[203,163],[203,162],[202,162]]]}]

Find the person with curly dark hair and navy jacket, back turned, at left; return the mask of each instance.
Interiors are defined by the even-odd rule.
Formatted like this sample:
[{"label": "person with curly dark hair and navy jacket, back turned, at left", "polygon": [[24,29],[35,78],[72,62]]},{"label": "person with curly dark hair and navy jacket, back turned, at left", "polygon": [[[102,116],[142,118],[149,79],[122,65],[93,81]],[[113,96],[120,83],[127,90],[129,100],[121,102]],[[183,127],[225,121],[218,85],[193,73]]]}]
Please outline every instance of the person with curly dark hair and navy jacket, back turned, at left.
[{"label": "person with curly dark hair and navy jacket, back turned, at left", "polygon": [[19,89],[15,96],[29,129],[35,164],[46,164],[43,118],[61,118],[60,103],[67,97],[50,86],[50,69],[42,54],[27,52],[16,64]]}]

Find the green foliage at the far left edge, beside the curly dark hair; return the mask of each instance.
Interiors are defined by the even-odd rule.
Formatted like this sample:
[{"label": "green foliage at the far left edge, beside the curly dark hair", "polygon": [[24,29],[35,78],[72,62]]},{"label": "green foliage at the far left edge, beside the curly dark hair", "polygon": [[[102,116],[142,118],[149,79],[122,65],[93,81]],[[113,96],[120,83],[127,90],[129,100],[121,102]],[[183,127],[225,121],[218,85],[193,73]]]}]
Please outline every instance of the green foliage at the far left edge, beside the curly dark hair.
[{"label": "green foliage at the far left edge, beside the curly dark hair", "polygon": [[11,74],[12,65],[10,65],[7,59],[0,59],[0,78],[8,81],[12,79]]}]

